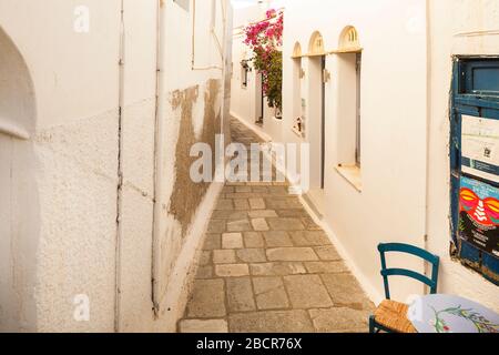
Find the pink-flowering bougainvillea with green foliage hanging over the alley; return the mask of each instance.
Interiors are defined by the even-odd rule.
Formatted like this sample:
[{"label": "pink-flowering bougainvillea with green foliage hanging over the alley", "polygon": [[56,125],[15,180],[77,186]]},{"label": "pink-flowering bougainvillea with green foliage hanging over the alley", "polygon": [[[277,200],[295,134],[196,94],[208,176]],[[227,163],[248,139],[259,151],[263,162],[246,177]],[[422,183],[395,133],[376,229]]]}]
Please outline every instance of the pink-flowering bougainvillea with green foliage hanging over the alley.
[{"label": "pink-flowering bougainvillea with green foliage hanging over the alley", "polygon": [[262,89],[267,98],[268,105],[283,109],[283,29],[284,13],[277,10],[268,10],[264,21],[249,24],[244,29],[248,45],[254,58],[255,69],[262,74]]}]

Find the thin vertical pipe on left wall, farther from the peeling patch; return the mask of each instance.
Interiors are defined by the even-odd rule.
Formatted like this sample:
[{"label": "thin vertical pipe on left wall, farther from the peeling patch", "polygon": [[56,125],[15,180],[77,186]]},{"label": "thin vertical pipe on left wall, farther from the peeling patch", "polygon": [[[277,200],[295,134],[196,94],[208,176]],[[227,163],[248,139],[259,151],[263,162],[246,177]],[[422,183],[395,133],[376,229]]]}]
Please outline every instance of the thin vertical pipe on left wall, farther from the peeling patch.
[{"label": "thin vertical pipe on left wall, farther from the peeling patch", "polygon": [[121,324],[121,252],[122,252],[122,212],[123,212],[123,109],[124,109],[124,57],[125,57],[125,27],[124,0],[121,0],[120,23],[120,73],[119,73],[119,118],[118,118],[118,200],[116,200],[116,248],[115,248],[115,304],[114,332],[120,333]]}]

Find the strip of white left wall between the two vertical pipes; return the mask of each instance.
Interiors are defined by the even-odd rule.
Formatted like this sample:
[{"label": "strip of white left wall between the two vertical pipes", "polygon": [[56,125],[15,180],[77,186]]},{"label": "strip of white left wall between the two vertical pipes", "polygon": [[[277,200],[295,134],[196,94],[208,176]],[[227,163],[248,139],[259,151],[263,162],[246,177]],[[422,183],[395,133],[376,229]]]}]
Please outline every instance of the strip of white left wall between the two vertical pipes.
[{"label": "strip of white left wall between the two vertical pipes", "polygon": [[125,1],[123,195],[121,229],[122,332],[151,332],[151,265],[156,110],[156,1]]}]

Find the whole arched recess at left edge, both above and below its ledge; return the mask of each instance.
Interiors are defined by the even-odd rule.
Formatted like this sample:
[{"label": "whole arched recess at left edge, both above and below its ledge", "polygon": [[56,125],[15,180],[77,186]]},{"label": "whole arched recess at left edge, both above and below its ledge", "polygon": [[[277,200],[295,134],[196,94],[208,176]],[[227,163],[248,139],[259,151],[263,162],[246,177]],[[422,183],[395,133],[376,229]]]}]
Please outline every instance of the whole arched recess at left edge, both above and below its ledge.
[{"label": "whole arched recess at left edge, both above and below its ledge", "polygon": [[40,203],[30,136],[35,95],[27,63],[0,28],[0,332],[34,331]]}]

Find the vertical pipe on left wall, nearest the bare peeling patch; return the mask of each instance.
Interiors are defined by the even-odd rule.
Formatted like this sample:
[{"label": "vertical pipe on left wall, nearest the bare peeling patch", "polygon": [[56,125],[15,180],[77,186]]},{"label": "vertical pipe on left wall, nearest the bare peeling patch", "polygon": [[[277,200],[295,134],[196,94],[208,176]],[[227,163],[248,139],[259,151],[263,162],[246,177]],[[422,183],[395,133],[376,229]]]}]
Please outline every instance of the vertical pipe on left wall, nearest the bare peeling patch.
[{"label": "vertical pipe on left wall, nearest the bare peeling patch", "polygon": [[164,20],[164,0],[157,1],[156,18],[156,122],[154,136],[154,214],[153,214],[153,242],[152,242],[152,303],[154,316],[157,318],[160,312],[161,294],[156,280],[160,271],[156,250],[160,248],[160,235],[162,231],[163,195],[164,195],[164,136],[165,136],[165,87],[163,79],[163,64],[165,59],[165,20]]}]

